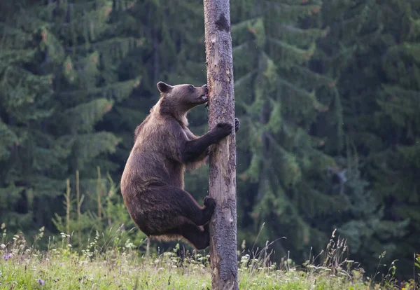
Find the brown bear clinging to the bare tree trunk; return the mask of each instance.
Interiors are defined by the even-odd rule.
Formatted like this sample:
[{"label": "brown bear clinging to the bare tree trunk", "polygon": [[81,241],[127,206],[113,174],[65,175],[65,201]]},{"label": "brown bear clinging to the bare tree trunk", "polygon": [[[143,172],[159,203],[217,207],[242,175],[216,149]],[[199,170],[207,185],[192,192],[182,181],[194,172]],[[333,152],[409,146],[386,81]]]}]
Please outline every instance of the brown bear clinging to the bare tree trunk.
[{"label": "brown bear clinging to the bare tree trunk", "polygon": [[[148,237],[184,238],[196,249],[209,247],[209,221],[216,201],[207,196],[200,207],[184,191],[184,171],[205,163],[209,146],[232,133],[232,125],[196,137],[187,113],[207,103],[207,85],[158,84],[160,99],[136,128],[134,146],[121,177],[121,193],[133,221]],[[235,118],[235,130],[239,120]]]}]

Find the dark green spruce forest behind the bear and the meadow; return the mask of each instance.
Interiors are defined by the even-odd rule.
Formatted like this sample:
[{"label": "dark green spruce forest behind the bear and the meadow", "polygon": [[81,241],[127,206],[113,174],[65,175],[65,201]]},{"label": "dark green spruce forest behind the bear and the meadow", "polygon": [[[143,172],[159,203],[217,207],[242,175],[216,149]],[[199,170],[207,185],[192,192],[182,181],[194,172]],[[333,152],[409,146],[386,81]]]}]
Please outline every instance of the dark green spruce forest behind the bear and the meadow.
[{"label": "dark green spruce forest behind the bear and the meadow", "polygon": [[[302,263],[337,228],[368,272],[386,251],[412,277],[420,1],[230,6],[238,247],[269,241],[277,261]],[[2,229],[31,242],[40,228],[70,233],[73,247],[125,231],[144,251],[118,184],[158,81],[206,82],[202,1],[0,1]],[[204,106],[189,119],[208,130]],[[187,174],[200,203],[207,189],[208,166]]]}]

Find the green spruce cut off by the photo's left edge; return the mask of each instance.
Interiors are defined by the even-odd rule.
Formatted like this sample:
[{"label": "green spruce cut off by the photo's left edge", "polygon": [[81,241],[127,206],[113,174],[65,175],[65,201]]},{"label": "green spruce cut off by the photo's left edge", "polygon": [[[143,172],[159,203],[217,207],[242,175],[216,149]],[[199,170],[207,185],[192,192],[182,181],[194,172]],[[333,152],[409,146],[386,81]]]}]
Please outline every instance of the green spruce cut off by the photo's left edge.
[{"label": "green spruce cut off by the photo's left edge", "polygon": [[40,69],[45,23],[35,5],[0,4],[0,221],[28,234],[43,226],[47,200],[60,193],[54,172],[64,163],[47,129],[53,76]]}]

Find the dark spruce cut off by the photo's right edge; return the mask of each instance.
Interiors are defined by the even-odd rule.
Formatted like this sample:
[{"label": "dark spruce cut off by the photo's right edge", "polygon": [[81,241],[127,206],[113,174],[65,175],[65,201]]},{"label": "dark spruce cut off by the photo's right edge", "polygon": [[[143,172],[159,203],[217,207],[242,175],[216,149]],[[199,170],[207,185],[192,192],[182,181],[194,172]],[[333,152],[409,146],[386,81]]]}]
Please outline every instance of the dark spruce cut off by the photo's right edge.
[{"label": "dark spruce cut off by the photo's right edge", "polygon": [[384,81],[373,120],[382,146],[371,154],[369,172],[387,218],[409,221],[402,240],[393,239],[398,268],[409,273],[420,230],[420,4],[385,1],[381,21],[386,52],[378,65]]}]

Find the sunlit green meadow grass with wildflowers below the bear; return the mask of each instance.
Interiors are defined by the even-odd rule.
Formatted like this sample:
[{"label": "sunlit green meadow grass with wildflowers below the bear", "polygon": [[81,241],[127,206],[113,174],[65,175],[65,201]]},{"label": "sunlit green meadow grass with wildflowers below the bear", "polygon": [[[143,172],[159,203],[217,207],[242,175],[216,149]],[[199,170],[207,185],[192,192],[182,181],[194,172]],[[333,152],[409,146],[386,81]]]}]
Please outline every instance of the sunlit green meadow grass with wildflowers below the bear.
[{"label": "sunlit green meadow grass with wildflowers below the bear", "polygon": [[[5,235],[4,235],[5,237]],[[35,238],[43,237],[42,230]],[[49,238],[48,249],[40,251],[36,242],[27,246],[25,237],[0,242],[0,289],[211,289],[208,255],[183,252],[179,247],[162,254],[141,256],[130,240],[119,244],[114,236],[99,246],[97,233],[85,249],[76,251],[62,240]],[[393,274],[374,284],[363,276],[357,263],[346,260],[345,240],[335,240],[323,251],[321,265],[309,258],[304,268],[285,258],[280,265],[271,263],[269,244],[249,254],[239,252],[240,289],[400,289]],[[394,269],[395,270],[395,269]],[[406,285],[406,289],[409,288]]]}]

